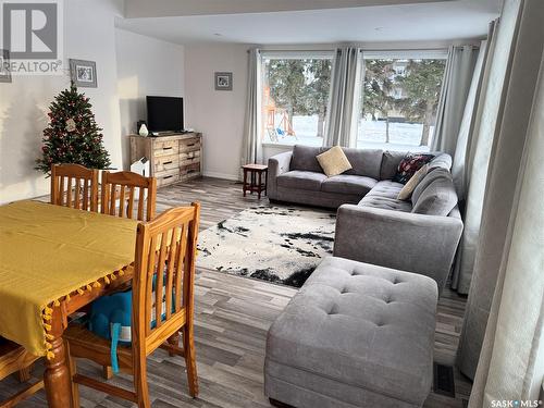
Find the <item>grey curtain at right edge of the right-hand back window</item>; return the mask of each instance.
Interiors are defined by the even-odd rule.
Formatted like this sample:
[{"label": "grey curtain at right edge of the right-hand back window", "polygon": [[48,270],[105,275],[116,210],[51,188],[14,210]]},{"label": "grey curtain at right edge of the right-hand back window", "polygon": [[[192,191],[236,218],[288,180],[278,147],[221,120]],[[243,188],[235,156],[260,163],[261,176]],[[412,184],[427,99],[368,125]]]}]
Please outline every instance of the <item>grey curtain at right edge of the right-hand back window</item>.
[{"label": "grey curtain at right edge of the right-hand back window", "polygon": [[432,151],[443,151],[452,157],[455,153],[478,53],[479,49],[473,46],[449,47],[438,100]]}]

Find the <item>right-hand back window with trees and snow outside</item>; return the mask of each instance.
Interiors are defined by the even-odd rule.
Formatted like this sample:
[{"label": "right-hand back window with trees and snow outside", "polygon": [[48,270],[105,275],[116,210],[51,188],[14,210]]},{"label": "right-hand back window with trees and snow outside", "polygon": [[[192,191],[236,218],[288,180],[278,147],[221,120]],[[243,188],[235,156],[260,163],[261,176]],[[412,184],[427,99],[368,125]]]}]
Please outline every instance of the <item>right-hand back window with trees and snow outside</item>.
[{"label": "right-hand back window with trees and snow outside", "polygon": [[357,147],[429,150],[446,65],[445,53],[364,54]]}]

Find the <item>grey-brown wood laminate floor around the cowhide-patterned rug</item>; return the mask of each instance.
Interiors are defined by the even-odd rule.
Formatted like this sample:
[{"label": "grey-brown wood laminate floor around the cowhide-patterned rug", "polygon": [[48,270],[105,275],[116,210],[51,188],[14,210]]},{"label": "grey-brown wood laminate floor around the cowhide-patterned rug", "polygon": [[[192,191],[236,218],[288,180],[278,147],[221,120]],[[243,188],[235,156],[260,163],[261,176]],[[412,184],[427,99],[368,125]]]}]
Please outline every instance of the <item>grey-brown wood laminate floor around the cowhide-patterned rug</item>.
[{"label": "grey-brown wood laminate floor around the cowhide-patterned rug", "polygon": [[[202,203],[201,227],[227,219],[247,207],[268,203],[256,196],[242,196],[235,182],[202,178],[164,187],[158,193],[158,211],[190,201]],[[182,358],[157,350],[149,359],[148,379],[152,406],[173,407],[270,407],[263,395],[262,367],[267,331],[296,289],[220,272],[199,270],[196,279],[196,348],[200,395],[187,393]],[[465,311],[465,298],[446,290],[438,302],[435,361],[452,366]],[[100,374],[90,362],[78,369],[88,375]],[[39,378],[38,363],[34,375]],[[113,383],[129,386],[129,378],[119,375]],[[456,397],[432,393],[425,408],[462,408],[470,394],[470,382],[455,371]],[[0,382],[0,400],[20,387],[15,378]],[[121,408],[129,403],[81,387],[82,407]],[[47,407],[44,392],[20,407]],[[316,407],[319,408],[319,407]]]}]

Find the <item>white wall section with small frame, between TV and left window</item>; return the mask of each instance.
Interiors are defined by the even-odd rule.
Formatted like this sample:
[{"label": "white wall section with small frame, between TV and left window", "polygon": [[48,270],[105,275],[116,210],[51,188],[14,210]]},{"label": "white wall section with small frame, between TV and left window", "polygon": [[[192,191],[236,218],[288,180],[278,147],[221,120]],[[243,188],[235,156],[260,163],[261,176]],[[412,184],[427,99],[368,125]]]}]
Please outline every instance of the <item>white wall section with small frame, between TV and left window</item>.
[{"label": "white wall section with small frame, between TV and left window", "polygon": [[[185,47],[186,127],[202,132],[205,175],[236,180],[246,111],[247,45]],[[214,72],[233,73],[233,90],[215,90]]]}]

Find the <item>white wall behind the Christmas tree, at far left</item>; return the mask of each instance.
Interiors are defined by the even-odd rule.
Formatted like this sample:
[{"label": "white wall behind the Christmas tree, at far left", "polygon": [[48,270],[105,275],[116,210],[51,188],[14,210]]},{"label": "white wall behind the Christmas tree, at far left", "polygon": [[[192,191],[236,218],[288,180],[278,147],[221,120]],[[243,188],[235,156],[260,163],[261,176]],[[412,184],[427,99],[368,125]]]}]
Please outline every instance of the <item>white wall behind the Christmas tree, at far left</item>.
[{"label": "white wall behind the Christmas tree, at far left", "polygon": [[[104,145],[113,166],[121,166],[119,99],[114,17],[123,12],[121,0],[64,1],[64,66],[67,58],[97,63],[98,88],[82,88],[103,127]],[[49,193],[48,180],[34,170],[47,126],[48,106],[70,86],[64,76],[14,76],[0,84],[0,202]]]}]

